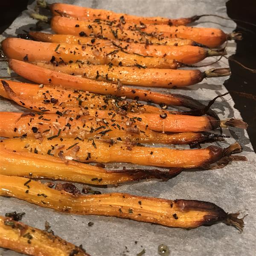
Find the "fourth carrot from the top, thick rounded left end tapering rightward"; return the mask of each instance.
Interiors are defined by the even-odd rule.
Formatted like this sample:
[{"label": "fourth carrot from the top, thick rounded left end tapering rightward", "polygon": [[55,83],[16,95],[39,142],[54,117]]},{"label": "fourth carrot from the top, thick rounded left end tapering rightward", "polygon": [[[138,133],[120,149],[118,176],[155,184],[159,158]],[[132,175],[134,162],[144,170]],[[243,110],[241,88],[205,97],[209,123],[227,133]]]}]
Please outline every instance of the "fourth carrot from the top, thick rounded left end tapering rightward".
[{"label": "fourth carrot from the top, thick rounded left end tapering rightward", "polygon": [[113,64],[122,66],[143,66],[151,68],[177,68],[177,61],[129,54],[112,47],[90,47],[74,44],[45,43],[20,38],[6,38],[2,41],[7,58],[24,61],[85,61],[91,64]]}]

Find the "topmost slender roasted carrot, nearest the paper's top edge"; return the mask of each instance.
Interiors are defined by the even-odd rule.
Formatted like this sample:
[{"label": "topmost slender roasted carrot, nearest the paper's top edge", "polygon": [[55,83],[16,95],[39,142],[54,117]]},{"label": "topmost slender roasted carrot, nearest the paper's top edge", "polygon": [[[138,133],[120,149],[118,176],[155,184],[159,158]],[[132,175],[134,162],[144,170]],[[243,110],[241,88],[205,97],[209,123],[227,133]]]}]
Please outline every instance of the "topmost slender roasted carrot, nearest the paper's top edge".
[{"label": "topmost slender roasted carrot, nearest the paper's top edge", "polygon": [[52,15],[68,15],[84,20],[109,20],[113,21],[114,23],[121,24],[128,22],[134,24],[168,24],[178,26],[191,23],[197,18],[197,16],[179,19],[169,19],[164,17],[142,17],[124,13],[116,13],[102,9],[91,9],[88,7],[81,7],[64,3],[53,3],[48,6],[52,11]]}]

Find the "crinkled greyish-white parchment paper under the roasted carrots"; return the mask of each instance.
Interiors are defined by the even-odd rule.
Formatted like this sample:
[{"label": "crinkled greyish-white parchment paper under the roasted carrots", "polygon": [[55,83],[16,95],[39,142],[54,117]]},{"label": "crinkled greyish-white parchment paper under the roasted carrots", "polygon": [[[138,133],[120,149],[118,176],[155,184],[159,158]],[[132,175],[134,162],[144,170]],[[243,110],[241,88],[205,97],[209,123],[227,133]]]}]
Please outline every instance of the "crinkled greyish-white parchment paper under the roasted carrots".
[{"label": "crinkled greyish-white parchment paper under the roasted carrots", "polygon": [[[48,1],[49,3],[55,1]],[[74,3],[99,9],[110,9],[115,12],[126,12],[134,15],[163,16],[163,17],[190,17],[200,14],[226,15],[225,1],[200,0],[66,0],[59,1]],[[28,6],[32,10],[34,5]],[[208,22],[211,20],[211,22]],[[29,18],[29,11],[24,11],[12,25],[3,33],[3,38],[16,36],[22,30],[34,26],[35,20]],[[194,26],[221,28],[224,32],[232,32],[235,23],[218,18],[201,18]],[[236,49],[235,42],[228,43],[228,54]],[[210,63],[215,58],[208,58],[202,63]],[[2,68],[5,67],[1,62]],[[201,70],[210,68],[204,67]],[[227,60],[222,58],[213,67],[227,67]],[[0,70],[6,76],[6,70]],[[12,76],[14,76],[12,74]],[[207,79],[200,84],[180,90],[157,89],[163,92],[175,92],[207,103],[215,96],[225,93],[222,85],[227,78]],[[22,81],[22,80],[20,80]],[[19,111],[19,106],[8,100],[0,99],[1,111]],[[214,108],[220,118],[241,118],[239,111],[234,108],[234,102],[229,95],[218,99]],[[26,212],[23,222],[31,226],[44,229],[44,222],[49,221],[55,234],[76,245],[83,247],[92,256],[134,256],[145,249],[145,256],[157,254],[159,244],[166,244],[171,256],[254,256],[255,247],[255,165],[256,158],[246,131],[236,128],[225,129],[224,134],[232,138],[225,143],[215,143],[227,147],[236,140],[244,148],[243,153],[247,162],[233,162],[223,169],[182,172],[177,177],[167,181],[157,180],[139,183],[127,183],[118,187],[100,188],[101,192],[127,192],[135,195],[153,196],[167,199],[195,199],[210,201],[222,207],[227,212],[248,214],[244,219],[243,233],[225,224],[216,224],[211,227],[199,227],[193,230],[169,228],[137,221],[105,216],[79,216],[55,212],[52,209],[35,206],[15,198],[0,198],[1,215],[6,212]],[[203,147],[206,147],[203,145]],[[184,148],[176,146],[176,148]],[[114,167],[127,166],[115,164]],[[113,167],[113,166],[112,166]],[[53,170],[54,171],[54,170]],[[78,185],[81,188],[81,185]],[[89,227],[88,222],[93,222]],[[137,243],[135,242],[137,241]],[[10,250],[0,249],[3,256],[20,255]]]}]

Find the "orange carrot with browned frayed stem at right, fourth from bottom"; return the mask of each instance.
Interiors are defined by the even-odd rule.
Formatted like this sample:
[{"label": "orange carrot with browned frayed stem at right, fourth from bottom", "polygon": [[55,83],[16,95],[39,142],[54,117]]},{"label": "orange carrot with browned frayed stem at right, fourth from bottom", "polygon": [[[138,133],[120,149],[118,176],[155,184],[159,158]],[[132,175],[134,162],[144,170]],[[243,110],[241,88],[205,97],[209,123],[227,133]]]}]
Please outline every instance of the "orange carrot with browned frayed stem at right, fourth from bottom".
[{"label": "orange carrot with browned frayed stem at right, fourth from bottom", "polygon": [[[194,168],[215,163],[222,157],[241,152],[238,143],[228,148],[209,146],[202,149],[170,149],[152,148],[131,145],[120,141],[102,141],[98,139],[77,141],[74,139],[56,136],[39,141],[34,138],[23,137],[1,141],[1,148],[37,154],[52,154],[58,157],[61,154],[65,159],[75,159],[80,162],[96,163],[134,163],[145,166]],[[56,145],[54,149],[52,145]],[[61,146],[61,147],[59,147]],[[59,153],[62,151],[61,153]],[[89,153],[89,154],[88,154]]]}]

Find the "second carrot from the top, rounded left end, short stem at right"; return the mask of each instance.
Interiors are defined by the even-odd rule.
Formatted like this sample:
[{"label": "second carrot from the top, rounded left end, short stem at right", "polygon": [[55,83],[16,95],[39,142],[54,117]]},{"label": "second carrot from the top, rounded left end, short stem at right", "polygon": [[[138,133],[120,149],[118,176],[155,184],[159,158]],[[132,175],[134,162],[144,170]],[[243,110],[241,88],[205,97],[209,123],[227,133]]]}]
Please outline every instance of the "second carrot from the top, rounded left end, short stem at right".
[{"label": "second carrot from the top, rounded left end, short stem at right", "polygon": [[[161,29],[166,29],[168,32]],[[199,44],[203,44],[210,48],[219,47],[226,40],[240,39],[240,34],[225,34],[221,29],[215,28],[195,28],[186,26],[168,26],[168,25],[148,25],[146,28],[140,29],[132,24],[124,24],[122,28],[110,26],[104,22],[89,22],[83,20],[75,20],[67,17],[52,17],[51,28],[57,34],[89,36],[95,38],[107,38],[111,40],[130,41],[131,39],[138,42],[145,42],[151,38],[158,38],[160,41],[165,38],[182,38],[190,39]],[[176,31],[177,30],[177,31]],[[143,32],[145,31],[145,32]],[[168,35],[168,36],[167,36]],[[176,36],[175,36],[176,35]]]}]

